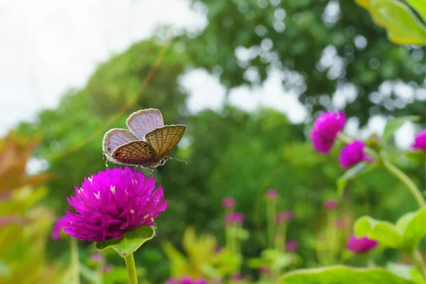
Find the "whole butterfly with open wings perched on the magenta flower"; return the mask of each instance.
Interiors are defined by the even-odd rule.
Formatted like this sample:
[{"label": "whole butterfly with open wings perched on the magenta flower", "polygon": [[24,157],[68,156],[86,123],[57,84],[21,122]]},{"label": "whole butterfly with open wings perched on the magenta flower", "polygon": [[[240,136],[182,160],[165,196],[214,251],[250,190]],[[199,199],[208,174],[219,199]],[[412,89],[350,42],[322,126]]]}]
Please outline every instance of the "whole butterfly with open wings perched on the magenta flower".
[{"label": "whole butterfly with open wings perched on the magenta flower", "polygon": [[130,131],[111,129],[105,133],[102,141],[104,155],[107,160],[120,165],[153,170],[152,175],[157,172],[158,166],[175,159],[168,154],[178,145],[186,130],[182,124],[165,126],[158,109],[133,112],[126,124]]}]

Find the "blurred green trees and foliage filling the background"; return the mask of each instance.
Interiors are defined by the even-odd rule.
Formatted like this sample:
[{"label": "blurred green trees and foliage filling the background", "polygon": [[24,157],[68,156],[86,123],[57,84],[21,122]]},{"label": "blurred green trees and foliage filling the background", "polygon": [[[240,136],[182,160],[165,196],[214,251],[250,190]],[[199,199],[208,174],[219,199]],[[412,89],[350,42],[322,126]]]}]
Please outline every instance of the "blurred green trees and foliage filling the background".
[{"label": "blurred green trees and foliage filling the background", "polygon": [[[344,173],[337,163],[342,145],[337,144],[325,156],[315,153],[307,141],[312,119],[319,111],[343,109],[348,117],[359,122],[360,129],[368,127],[372,116],[415,114],[421,118],[415,129],[424,128],[425,47],[390,42],[386,29],[376,26],[371,14],[354,1],[204,0],[194,1],[193,5],[207,13],[204,30],[185,31],[168,43],[169,28],[158,28],[155,37],[135,43],[124,53],[100,64],[84,87],[62,95],[58,107],[40,111],[33,121],[18,124],[11,145],[16,149],[22,143],[16,153],[25,153],[15,157],[20,163],[9,172],[1,171],[10,159],[6,155],[10,148],[5,146],[9,144],[4,142],[7,139],[2,142],[1,196],[15,196],[13,192],[18,192],[15,189],[31,186],[31,200],[36,203],[28,204],[28,208],[16,203],[19,205],[8,207],[9,211],[2,209],[4,216],[25,219],[23,228],[40,221],[34,214],[46,217],[46,224],[36,226],[40,230],[37,236],[43,236],[40,244],[28,244],[40,249],[31,253],[36,256],[31,261],[43,258],[45,263],[65,266],[68,244],[50,240],[52,222],[65,209],[70,209],[66,197],[72,194],[74,186],[84,177],[104,170],[101,148],[104,132],[114,127],[125,128],[127,116],[138,109],[157,108],[162,111],[165,124],[187,125],[173,156],[188,164],[170,161],[159,169],[155,178],[165,190],[168,209],[155,220],[157,236],[135,256],[151,283],[163,283],[168,278],[170,266],[161,244],[170,241],[182,249],[182,234],[188,226],[194,226],[197,234],[212,233],[219,244],[224,243],[221,206],[224,197],[234,197],[236,210],[246,215],[244,227],[249,230],[250,238],[242,244],[244,257],[258,256],[266,246],[263,195],[268,188],[280,193],[280,209],[295,213],[288,239],[299,241],[298,253],[305,260],[302,266],[316,265],[313,244],[325,222],[323,202],[337,197],[336,180]],[[163,60],[146,89],[106,126],[131,100],[163,48],[167,48]],[[295,124],[283,111],[268,107],[245,111],[228,99],[224,99],[219,109],[190,111],[189,94],[180,85],[180,77],[196,68],[217,77],[227,90],[240,86],[256,88],[271,72],[279,72],[285,93],[297,94],[307,118]],[[383,85],[389,84],[408,86],[413,94],[400,96],[395,88],[386,94]],[[347,92],[353,92],[354,96],[345,97],[344,103],[338,105],[336,98]],[[360,133],[360,129],[352,133]],[[28,148],[34,150],[33,154]],[[30,155],[45,160],[47,168],[43,172],[53,176],[6,185],[6,180],[25,176],[23,167]],[[410,163],[396,147],[389,155],[425,189],[424,166]],[[109,163],[112,166],[115,165]],[[40,193],[39,199],[33,196],[36,192]],[[34,211],[38,206],[45,212]],[[339,202],[345,237],[351,234],[354,219],[361,215],[395,222],[401,214],[414,209],[415,200],[404,185],[381,170],[349,182]],[[7,229],[11,227],[6,222],[0,223],[2,251],[11,242],[10,234],[6,238]],[[36,234],[34,230],[31,234]],[[7,268],[7,258],[11,255],[16,256],[15,261],[21,258],[19,248],[26,246],[21,242],[15,251],[0,253],[0,271]],[[80,248],[82,258],[92,251],[87,242],[80,242]],[[400,260],[394,251],[385,251],[374,258],[378,264]],[[108,259],[110,263],[123,265],[118,257]],[[349,263],[356,266],[357,260]],[[54,273],[55,269],[48,271]],[[256,275],[246,265],[242,271]]]}]

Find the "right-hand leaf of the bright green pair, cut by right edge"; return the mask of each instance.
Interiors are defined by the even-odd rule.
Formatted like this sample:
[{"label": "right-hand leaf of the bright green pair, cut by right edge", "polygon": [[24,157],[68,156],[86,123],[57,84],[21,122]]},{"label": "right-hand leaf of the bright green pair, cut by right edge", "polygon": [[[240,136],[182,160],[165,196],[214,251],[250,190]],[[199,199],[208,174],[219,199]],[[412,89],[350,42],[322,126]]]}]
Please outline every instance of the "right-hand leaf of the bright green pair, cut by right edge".
[{"label": "right-hand leaf of the bright green pair, cut by right edge", "polygon": [[426,234],[425,224],[426,207],[400,217],[396,227],[403,232],[405,248],[414,249],[417,246],[418,241]]}]

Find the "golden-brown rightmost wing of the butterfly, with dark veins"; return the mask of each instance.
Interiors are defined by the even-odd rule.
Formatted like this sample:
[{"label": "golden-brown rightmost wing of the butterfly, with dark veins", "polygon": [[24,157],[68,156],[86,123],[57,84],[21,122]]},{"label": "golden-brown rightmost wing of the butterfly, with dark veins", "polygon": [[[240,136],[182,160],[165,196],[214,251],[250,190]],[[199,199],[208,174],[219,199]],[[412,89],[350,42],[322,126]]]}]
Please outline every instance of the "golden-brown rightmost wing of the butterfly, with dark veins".
[{"label": "golden-brown rightmost wing of the butterfly, with dark veins", "polygon": [[155,160],[161,160],[167,156],[185,133],[185,125],[166,125],[146,133],[145,140],[157,152]]}]

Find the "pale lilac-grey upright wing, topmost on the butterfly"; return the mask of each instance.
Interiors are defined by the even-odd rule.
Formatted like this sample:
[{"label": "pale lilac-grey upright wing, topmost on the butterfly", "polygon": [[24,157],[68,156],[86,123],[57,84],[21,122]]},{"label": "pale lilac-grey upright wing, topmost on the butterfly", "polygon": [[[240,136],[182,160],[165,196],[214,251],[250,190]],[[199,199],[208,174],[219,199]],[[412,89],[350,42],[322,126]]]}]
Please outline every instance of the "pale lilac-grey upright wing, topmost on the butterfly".
[{"label": "pale lilac-grey upright wing, topmost on the butterfly", "polygon": [[143,140],[149,131],[164,126],[163,116],[158,109],[141,109],[133,112],[126,124],[138,140]]}]

